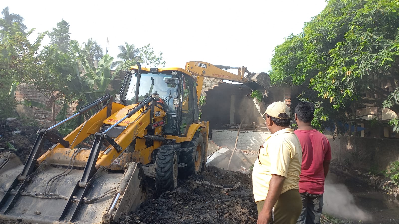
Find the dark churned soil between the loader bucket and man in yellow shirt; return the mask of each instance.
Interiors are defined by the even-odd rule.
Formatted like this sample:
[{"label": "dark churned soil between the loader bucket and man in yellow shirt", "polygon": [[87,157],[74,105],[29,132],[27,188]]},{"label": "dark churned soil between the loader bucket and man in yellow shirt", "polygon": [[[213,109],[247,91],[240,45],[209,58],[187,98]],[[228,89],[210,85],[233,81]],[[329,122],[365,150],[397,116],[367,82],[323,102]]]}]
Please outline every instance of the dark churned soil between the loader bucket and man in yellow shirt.
[{"label": "dark churned soil between the loader bucket and man in yellow shirt", "polygon": [[[208,181],[211,184],[232,188],[223,193],[223,189],[196,181]],[[178,181],[178,187],[156,199],[142,204],[140,209],[120,224],[252,224],[256,223],[257,208],[252,194],[252,178],[235,172],[226,173],[215,166],[207,167],[200,175],[192,175]]]}]

